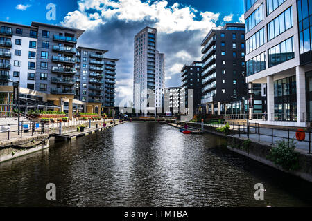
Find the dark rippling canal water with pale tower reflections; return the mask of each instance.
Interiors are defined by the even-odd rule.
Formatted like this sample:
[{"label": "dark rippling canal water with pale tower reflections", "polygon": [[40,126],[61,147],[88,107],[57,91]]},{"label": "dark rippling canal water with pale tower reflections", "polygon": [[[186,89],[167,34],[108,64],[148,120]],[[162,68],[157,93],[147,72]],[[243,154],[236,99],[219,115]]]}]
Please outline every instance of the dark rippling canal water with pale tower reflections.
[{"label": "dark rippling canal water with pale tower reflections", "polygon": [[[214,135],[127,123],[0,164],[0,206],[311,206],[312,185]],[[57,200],[46,200],[46,184]],[[264,200],[254,200],[262,183]]]}]

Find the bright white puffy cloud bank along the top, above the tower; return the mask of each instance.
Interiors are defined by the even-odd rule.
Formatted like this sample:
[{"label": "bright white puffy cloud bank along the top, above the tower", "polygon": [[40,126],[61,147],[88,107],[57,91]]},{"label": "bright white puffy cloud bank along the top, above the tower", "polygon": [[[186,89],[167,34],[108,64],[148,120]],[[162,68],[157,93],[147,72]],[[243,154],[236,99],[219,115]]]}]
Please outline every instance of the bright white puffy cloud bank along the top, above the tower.
[{"label": "bright white puffy cloud bank along the top, above the tower", "polygon": [[[112,17],[122,21],[155,21],[159,32],[173,33],[187,30],[207,30],[216,27],[219,13],[200,12],[196,19],[196,10],[191,6],[180,7],[178,3],[168,6],[168,1],[154,3],[140,0],[82,0],[78,3],[78,11],[69,12],[62,25],[75,28],[92,29],[98,23],[105,23]],[[94,14],[89,10],[96,10]],[[97,14],[96,16],[94,16]]]}]

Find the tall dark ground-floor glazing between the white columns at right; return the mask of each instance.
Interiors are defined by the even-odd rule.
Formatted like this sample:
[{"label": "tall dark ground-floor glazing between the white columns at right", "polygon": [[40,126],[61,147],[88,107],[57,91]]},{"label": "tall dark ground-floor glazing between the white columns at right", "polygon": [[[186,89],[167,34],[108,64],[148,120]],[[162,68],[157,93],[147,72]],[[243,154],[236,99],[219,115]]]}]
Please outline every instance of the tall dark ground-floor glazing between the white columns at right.
[{"label": "tall dark ground-floor glazing between the white columns at right", "polygon": [[297,121],[296,77],[274,81],[274,120]]}]

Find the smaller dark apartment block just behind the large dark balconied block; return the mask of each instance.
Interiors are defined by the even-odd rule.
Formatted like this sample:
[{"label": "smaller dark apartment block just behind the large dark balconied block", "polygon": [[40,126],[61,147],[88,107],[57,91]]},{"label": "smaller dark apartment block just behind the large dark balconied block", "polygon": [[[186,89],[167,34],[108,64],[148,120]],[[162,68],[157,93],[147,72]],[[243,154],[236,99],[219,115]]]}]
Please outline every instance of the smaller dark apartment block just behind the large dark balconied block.
[{"label": "smaller dark apartment block just behind the large dark balconied block", "polygon": [[[202,61],[193,61],[192,64],[185,64],[181,70],[181,82],[185,93],[185,108],[189,108],[188,90],[193,89],[193,113],[198,113],[201,110],[202,98]],[[185,111],[182,111],[182,114],[185,114]]]}]

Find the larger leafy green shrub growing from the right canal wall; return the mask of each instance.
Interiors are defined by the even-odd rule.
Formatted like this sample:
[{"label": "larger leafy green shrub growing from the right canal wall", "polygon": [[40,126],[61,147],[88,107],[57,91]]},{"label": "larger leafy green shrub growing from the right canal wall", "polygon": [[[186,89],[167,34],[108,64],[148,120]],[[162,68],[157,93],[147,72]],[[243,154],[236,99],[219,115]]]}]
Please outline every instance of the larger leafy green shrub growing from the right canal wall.
[{"label": "larger leafy green shrub growing from the right canal wall", "polygon": [[287,171],[300,169],[299,153],[295,152],[294,140],[289,143],[286,140],[277,141],[276,143],[277,146],[270,149],[268,159]]}]

